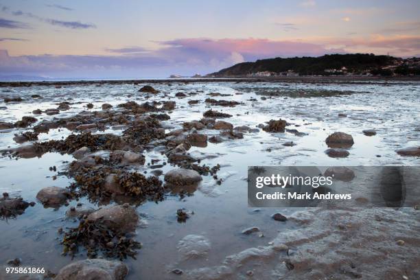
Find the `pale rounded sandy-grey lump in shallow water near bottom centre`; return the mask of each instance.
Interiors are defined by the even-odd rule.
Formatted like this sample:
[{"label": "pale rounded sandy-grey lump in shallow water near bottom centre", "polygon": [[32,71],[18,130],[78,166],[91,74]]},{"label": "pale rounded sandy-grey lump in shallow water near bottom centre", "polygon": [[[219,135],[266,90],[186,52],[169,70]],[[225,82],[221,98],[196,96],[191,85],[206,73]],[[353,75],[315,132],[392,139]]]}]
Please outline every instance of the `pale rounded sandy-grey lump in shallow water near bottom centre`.
[{"label": "pale rounded sandy-grey lump in shallow water near bottom centre", "polygon": [[207,255],[211,248],[211,243],[202,235],[190,234],[183,237],[176,248],[178,248],[182,259],[190,259]]}]

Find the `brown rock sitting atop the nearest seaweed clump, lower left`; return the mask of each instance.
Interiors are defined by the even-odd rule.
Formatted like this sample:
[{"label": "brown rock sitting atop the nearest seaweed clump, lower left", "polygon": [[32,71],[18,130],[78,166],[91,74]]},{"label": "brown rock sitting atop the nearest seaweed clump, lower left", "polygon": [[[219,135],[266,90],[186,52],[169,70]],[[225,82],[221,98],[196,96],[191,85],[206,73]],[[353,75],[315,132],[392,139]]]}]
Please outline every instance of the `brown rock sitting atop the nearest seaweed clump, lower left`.
[{"label": "brown rock sitting atop the nearest seaweed clump, lower left", "polygon": [[135,231],[139,216],[136,210],[126,203],[99,209],[89,214],[87,220],[100,221],[114,231],[127,233]]}]

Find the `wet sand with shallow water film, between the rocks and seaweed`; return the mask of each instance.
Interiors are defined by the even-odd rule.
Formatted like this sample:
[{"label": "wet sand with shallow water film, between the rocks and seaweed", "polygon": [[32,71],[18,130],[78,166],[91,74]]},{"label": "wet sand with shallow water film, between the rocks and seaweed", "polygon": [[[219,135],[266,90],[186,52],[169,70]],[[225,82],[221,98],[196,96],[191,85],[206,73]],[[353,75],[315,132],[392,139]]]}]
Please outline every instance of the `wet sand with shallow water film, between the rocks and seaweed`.
[{"label": "wet sand with shallow water film, between the rocks and seaweed", "polygon": [[[146,84],[159,93],[139,92]],[[20,196],[27,202],[36,202],[21,215],[0,220],[3,237],[0,240],[0,264],[18,257],[22,259],[22,265],[45,267],[57,273],[72,261],[86,259],[83,246],[79,246],[73,260],[69,255],[61,255],[63,234],[58,230],[62,228],[67,232],[80,222],[78,218],[66,218],[65,212],[78,203],[97,209],[128,202],[139,215],[133,238],[142,243],[142,248],[137,250],[137,259],[124,259],[130,268],[127,279],[420,277],[418,210],[348,207],[253,209],[248,207],[246,189],[248,165],[420,165],[418,156],[401,156],[395,152],[420,145],[418,82],[337,82],[334,79],[257,82],[248,79],[34,82],[28,85],[2,84],[0,89],[2,99],[22,98],[20,102],[0,104],[1,121],[15,124],[24,116],[37,119],[26,128],[13,126],[0,133],[0,150],[8,151],[0,159],[0,191],[13,198]],[[205,102],[209,98],[238,104],[220,106],[220,103]],[[148,102],[150,106],[118,107],[132,101],[139,105]],[[176,102],[175,108],[165,109],[165,102],[172,101]],[[49,108],[58,108],[61,102],[69,102],[69,108],[62,106],[65,110],[58,110],[56,115],[44,113]],[[92,104],[92,108],[88,108],[88,104]],[[113,107],[102,110],[102,104]],[[38,108],[43,113],[32,113]],[[250,129],[243,128],[241,138],[235,134],[239,130],[233,130],[232,135],[224,133],[229,129],[214,129],[211,124],[203,124],[200,119],[210,109],[232,116],[217,121]],[[80,115],[82,111],[84,113]],[[144,118],[153,114],[151,119]],[[169,115],[170,119],[163,114]],[[287,121],[288,130],[263,130],[270,119]],[[45,208],[36,199],[40,189],[51,186],[68,188],[78,183],[70,172],[70,165],[76,159],[68,152],[79,147],[54,142],[54,145],[43,145],[44,150],[38,151],[40,154],[34,157],[23,158],[22,154],[14,154],[14,148],[35,142],[16,143],[14,135],[33,132],[34,127],[39,128],[43,121],[44,124],[52,121],[54,126],[47,123],[51,128],[47,133],[37,135],[38,143],[65,141],[69,135],[89,132],[91,135],[110,133],[128,137],[128,145],[115,148],[115,145],[105,143],[97,151],[91,151],[101,158],[96,158],[94,165],[138,172],[146,177],[161,170],[158,178],[165,186],[163,197],[133,198],[130,195],[129,199],[124,196],[100,196],[98,199],[89,192],[78,193],[76,184],[73,185],[76,188],[74,196],[67,200],[68,205]],[[72,128],[67,126],[69,121],[100,125],[72,130],[68,129]],[[199,121],[200,124],[185,126],[185,122],[190,121]],[[154,127],[156,124],[159,126]],[[153,137],[145,141],[144,135],[140,137],[126,131],[138,125],[147,126]],[[190,126],[196,128],[189,129]],[[165,135],[159,136],[159,129],[163,129]],[[185,137],[194,134],[194,129],[200,135],[207,135],[206,141],[199,139],[187,150],[191,158],[200,159],[194,164],[220,165],[220,170],[215,173],[217,178],[202,174],[202,180],[185,188],[181,195],[178,191],[185,185],[169,187],[164,180],[165,174],[179,165],[191,168],[187,162],[171,162],[167,154],[179,143],[194,142],[191,138],[171,137],[171,132],[178,129],[183,129],[181,135]],[[366,136],[362,130],[375,130],[376,135]],[[349,156],[345,158],[325,154],[328,148],[325,139],[336,131],[346,132],[354,139],[355,143],[348,150]],[[211,137],[220,137],[222,142],[211,143]],[[139,139],[143,142],[137,142]],[[296,145],[283,145],[285,143]],[[112,163],[110,154],[120,149],[142,154],[144,165]],[[153,166],[160,164],[162,166],[157,168]],[[55,170],[50,170],[54,166]],[[178,222],[177,210],[183,208],[194,211],[194,214],[185,222]],[[270,216],[276,212],[283,213],[288,221],[272,220]],[[250,227],[258,227],[261,232],[242,234]],[[404,245],[397,244],[398,240],[404,240]],[[183,273],[176,275],[172,272],[176,268]]]}]

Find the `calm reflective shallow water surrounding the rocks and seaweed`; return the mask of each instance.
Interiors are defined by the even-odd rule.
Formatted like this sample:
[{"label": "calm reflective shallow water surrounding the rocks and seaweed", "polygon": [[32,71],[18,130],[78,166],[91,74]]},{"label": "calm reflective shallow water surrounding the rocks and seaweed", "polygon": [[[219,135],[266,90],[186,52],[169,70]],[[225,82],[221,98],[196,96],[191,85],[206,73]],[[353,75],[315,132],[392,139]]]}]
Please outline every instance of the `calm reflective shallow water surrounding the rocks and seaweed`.
[{"label": "calm reflective shallow water surrounding the rocks and seaweed", "polygon": [[[10,87],[0,89],[1,97],[20,96],[23,102],[0,103],[1,121],[16,121],[32,110],[56,108],[62,101],[71,102],[71,109],[60,115],[36,115],[39,120],[68,117],[86,110],[86,103],[93,103],[91,110],[101,110],[104,103],[114,106],[127,101],[145,102],[145,94],[137,92],[141,85],[102,84],[102,86],[54,86]],[[147,101],[174,100],[176,110],[170,113],[169,121],[161,123],[167,132],[182,128],[184,121],[198,120],[208,110],[204,100],[207,93],[229,94],[224,97],[211,97],[218,100],[235,100],[242,105],[234,108],[213,106],[215,110],[230,113],[233,117],[224,119],[234,126],[255,128],[270,119],[285,119],[288,128],[304,132],[303,137],[292,133],[267,133],[260,130],[246,133],[244,139],[208,143],[206,148],[192,147],[191,154],[202,157],[206,165],[222,165],[219,177],[222,185],[215,184],[211,176],[204,176],[193,196],[180,199],[168,196],[163,202],[145,202],[137,207],[141,214],[141,224],[137,229],[137,240],[143,243],[137,260],[127,259],[130,267],[128,279],[182,279],[183,275],[173,275],[174,268],[190,270],[194,268],[219,265],[231,254],[256,246],[268,244],[279,232],[286,229],[299,229],[293,222],[273,222],[270,215],[281,211],[291,214],[293,209],[254,209],[247,206],[246,172],[248,165],[420,165],[416,157],[399,156],[395,150],[420,145],[420,84],[419,83],[376,83],[376,84],[288,84],[288,83],[191,83],[153,85],[161,91]],[[175,93],[198,93],[183,99],[174,97]],[[337,93],[348,92],[349,95]],[[240,95],[236,93],[242,93]],[[38,94],[43,99],[32,99]],[[327,95],[327,96],[326,96]],[[261,100],[266,97],[266,100]],[[264,98],[263,98],[264,99]],[[189,105],[189,100],[200,100]],[[116,108],[116,107],[115,107]],[[347,117],[338,117],[342,113]],[[366,137],[362,130],[375,129],[377,135]],[[13,148],[19,144],[12,138],[15,133],[31,128],[3,130],[0,133],[0,150]],[[122,130],[108,128],[106,132],[115,134]],[[333,159],[324,151],[325,138],[335,131],[353,136],[355,144],[345,159]],[[207,135],[218,135],[218,130],[204,130]],[[104,133],[104,132],[96,132]],[[38,141],[61,139],[71,132],[65,128],[50,130],[40,134]],[[293,147],[283,143],[293,141]],[[25,143],[23,144],[25,145]],[[163,159],[159,151],[145,152],[146,163],[151,159]],[[379,157],[380,156],[380,157]],[[60,176],[58,172],[67,169],[71,155],[55,153],[44,154],[34,159],[0,158],[0,191],[10,196],[21,196],[27,201],[36,201],[36,193],[51,185],[67,187],[71,178]],[[49,171],[56,165],[57,172]],[[163,173],[174,168],[166,165]],[[148,170],[148,166],[138,167]],[[56,178],[53,178],[57,175]],[[163,176],[161,176],[163,180]],[[85,199],[84,205],[91,205]],[[26,209],[15,220],[0,220],[0,264],[7,259],[20,257],[25,265],[45,267],[58,272],[62,266],[71,262],[71,257],[61,256],[61,235],[58,228],[75,226],[77,222],[65,219],[65,211],[77,202],[71,201],[68,207],[45,209],[40,203]],[[176,209],[194,211],[186,223],[176,221]],[[264,237],[242,235],[242,229],[258,226]],[[418,226],[418,225],[417,225]],[[210,244],[209,252],[202,257],[185,259],[178,250],[178,242],[186,235],[202,235]],[[76,259],[84,259],[81,251]]]}]

